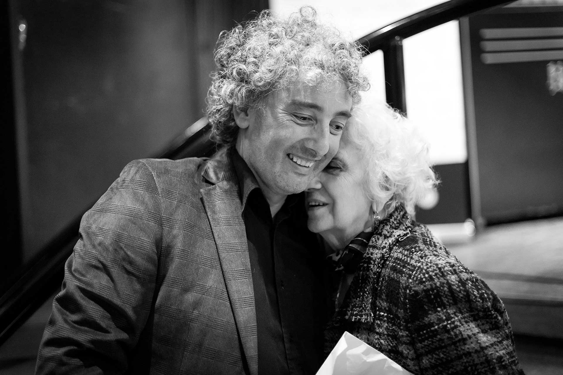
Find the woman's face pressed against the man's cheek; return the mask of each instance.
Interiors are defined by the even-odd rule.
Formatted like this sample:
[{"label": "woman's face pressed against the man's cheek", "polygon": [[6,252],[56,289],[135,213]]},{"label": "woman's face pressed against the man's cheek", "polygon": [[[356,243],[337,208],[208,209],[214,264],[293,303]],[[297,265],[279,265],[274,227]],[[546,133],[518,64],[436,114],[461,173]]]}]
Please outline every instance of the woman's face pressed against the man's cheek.
[{"label": "woman's face pressed against the man's cheek", "polygon": [[306,190],[307,227],[333,249],[348,245],[373,222],[372,202],[364,193],[360,151],[344,137],[329,164]]}]

